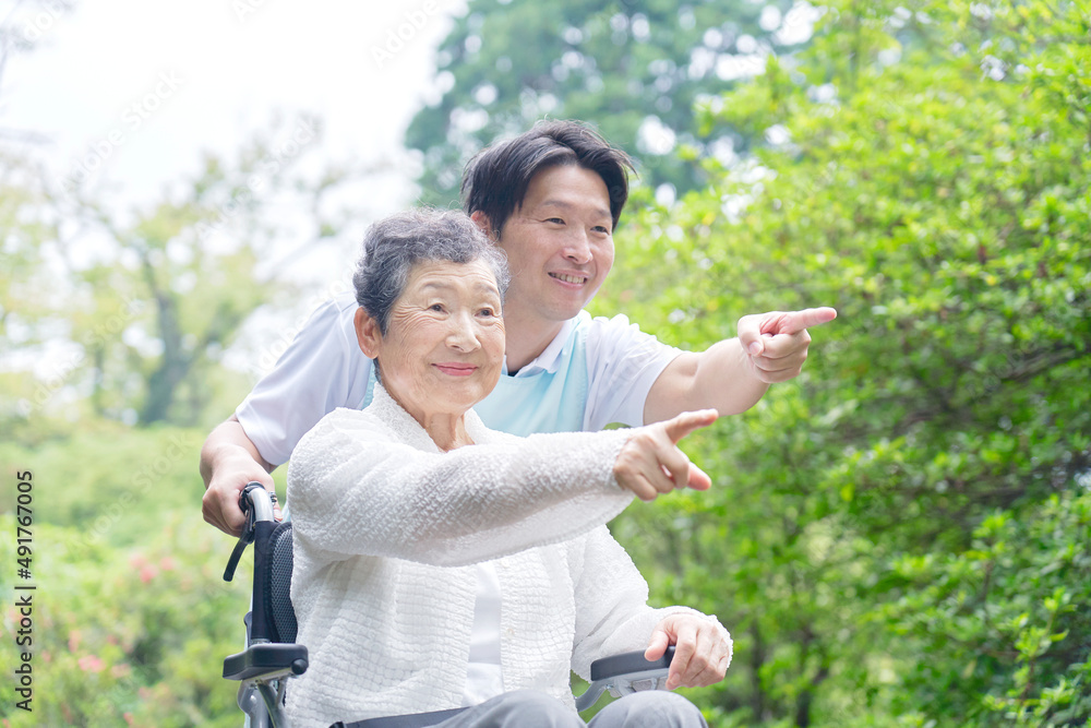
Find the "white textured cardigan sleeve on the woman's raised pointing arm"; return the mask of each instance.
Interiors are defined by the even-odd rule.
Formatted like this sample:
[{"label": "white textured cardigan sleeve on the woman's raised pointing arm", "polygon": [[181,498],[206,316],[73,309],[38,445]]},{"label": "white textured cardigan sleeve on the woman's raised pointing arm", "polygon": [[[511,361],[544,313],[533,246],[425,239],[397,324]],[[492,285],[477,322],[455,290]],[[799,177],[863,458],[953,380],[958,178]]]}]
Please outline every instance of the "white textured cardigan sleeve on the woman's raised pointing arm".
[{"label": "white textured cardigan sleeve on the woman's raised pointing arm", "polygon": [[456,566],[587,533],[633,496],[613,477],[627,433],[499,435],[449,453],[338,409],[296,447],[288,501],[298,538],[351,554]]}]

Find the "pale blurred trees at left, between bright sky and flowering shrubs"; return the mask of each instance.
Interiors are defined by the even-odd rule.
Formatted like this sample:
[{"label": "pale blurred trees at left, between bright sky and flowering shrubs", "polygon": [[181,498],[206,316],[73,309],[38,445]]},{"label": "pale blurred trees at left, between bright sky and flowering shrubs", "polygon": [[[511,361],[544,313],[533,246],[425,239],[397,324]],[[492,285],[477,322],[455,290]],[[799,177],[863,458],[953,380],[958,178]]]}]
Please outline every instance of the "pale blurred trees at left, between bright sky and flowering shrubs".
[{"label": "pale blurred trees at left, between bright sky and flowering shrubs", "polygon": [[219,356],[256,308],[290,294],[293,256],[344,222],[326,199],[364,174],[297,171],[320,133],[313,119],[274,130],[237,162],[206,158],[195,179],[128,212],[81,175],[58,190],[22,188],[9,172],[0,214],[27,222],[2,241],[17,265],[4,274],[13,283],[0,336],[51,362],[12,378],[3,409],[13,426],[33,428],[60,406],[130,423],[206,423],[230,381]]}]

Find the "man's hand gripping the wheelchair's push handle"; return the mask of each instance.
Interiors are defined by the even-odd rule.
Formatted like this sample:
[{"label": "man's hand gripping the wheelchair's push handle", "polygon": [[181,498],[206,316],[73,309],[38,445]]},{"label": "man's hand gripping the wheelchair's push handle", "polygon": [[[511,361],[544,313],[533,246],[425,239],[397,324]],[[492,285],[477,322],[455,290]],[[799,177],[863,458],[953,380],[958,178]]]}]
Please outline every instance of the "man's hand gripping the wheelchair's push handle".
[{"label": "man's hand gripping the wheelchair's push handle", "polygon": [[[257,452],[235,415],[218,425],[201,447],[201,477],[205,481],[201,511],[205,521],[225,534],[241,534],[245,516],[239,509],[239,493],[252,480],[275,492],[269,475],[274,467]],[[279,506],[275,511],[279,521]]]}]

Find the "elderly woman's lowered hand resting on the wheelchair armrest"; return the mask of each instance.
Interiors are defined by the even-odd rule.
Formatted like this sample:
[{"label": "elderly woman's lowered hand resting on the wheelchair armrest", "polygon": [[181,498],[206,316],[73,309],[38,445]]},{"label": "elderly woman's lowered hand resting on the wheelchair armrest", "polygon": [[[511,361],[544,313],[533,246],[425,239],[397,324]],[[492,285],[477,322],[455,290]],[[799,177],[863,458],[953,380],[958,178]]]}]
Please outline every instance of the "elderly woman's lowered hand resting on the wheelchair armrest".
[{"label": "elderly woman's lowered hand resting on the wheelchair armrest", "polygon": [[671,614],[651,633],[645,659],[658,659],[674,645],[667,689],[704,688],[723,680],[731,664],[731,637],[714,617]]}]

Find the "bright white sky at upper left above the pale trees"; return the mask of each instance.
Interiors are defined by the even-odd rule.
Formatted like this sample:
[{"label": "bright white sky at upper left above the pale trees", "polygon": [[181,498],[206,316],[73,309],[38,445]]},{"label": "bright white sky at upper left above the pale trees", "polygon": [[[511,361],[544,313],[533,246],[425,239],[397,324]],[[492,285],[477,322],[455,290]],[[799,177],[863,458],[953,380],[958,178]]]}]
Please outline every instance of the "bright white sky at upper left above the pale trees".
[{"label": "bright white sky at upper left above the pale trees", "polygon": [[[133,200],[194,174],[202,150],[230,158],[274,112],[324,119],[331,158],[396,157],[435,94],[435,47],[465,10],[461,0],[58,4],[0,2],[5,28],[34,46],[9,59],[0,128],[46,135],[37,151],[62,177],[105,157],[98,181]],[[401,177],[384,186],[391,211],[408,202]]]}]

